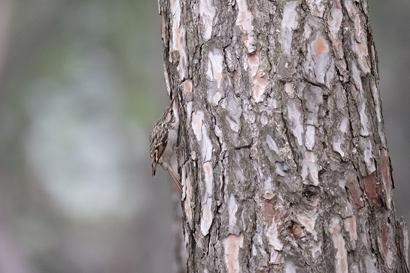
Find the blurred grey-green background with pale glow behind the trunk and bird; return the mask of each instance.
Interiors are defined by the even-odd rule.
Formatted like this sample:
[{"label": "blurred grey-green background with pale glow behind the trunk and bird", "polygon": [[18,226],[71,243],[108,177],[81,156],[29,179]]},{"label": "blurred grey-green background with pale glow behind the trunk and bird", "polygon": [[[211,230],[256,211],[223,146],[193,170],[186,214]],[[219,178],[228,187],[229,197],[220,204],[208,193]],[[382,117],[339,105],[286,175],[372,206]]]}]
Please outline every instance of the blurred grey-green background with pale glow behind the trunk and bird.
[{"label": "blurred grey-green background with pale glow behind the trunk and bird", "polygon": [[[370,1],[398,216],[410,222],[410,2]],[[156,1],[0,0],[0,272],[170,272]]]}]

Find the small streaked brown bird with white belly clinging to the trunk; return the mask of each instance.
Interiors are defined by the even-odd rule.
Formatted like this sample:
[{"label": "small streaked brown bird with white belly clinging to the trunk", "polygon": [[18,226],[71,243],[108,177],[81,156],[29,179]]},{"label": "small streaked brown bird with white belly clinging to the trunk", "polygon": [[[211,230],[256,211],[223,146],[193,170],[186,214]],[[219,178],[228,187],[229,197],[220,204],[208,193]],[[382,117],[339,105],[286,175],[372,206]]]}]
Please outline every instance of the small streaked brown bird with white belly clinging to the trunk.
[{"label": "small streaked brown bird with white belly clinging to the trunk", "polygon": [[171,158],[175,152],[178,140],[179,116],[175,98],[171,101],[171,106],[165,109],[162,115],[152,128],[150,134],[150,155],[152,165],[152,175],[155,176],[157,164],[162,166],[174,180],[175,184],[182,192],[182,185],[172,170]]}]

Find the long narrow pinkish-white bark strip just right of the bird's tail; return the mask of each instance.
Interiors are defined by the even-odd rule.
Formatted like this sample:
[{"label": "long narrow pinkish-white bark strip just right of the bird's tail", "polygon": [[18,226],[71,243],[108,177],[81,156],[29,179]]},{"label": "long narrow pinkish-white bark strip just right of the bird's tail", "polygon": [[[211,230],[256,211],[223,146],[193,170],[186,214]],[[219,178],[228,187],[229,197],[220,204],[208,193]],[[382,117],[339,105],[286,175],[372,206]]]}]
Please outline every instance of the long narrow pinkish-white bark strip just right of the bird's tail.
[{"label": "long narrow pinkish-white bark strip just right of the bird's tail", "polygon": [[203,163],[203,173],[205,193],[202,198],[201,233],[206,236],[214,218],[212,214],[213,171],[211,162]]}]

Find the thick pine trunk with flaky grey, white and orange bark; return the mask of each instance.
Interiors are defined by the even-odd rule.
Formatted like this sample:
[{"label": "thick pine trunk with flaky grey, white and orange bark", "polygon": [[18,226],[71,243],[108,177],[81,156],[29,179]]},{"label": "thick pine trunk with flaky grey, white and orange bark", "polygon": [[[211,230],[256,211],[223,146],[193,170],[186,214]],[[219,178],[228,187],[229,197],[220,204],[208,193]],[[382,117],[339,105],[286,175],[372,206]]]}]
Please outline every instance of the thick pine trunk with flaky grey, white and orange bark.
[{"label": "thick pine trunk with flaky grey, white and orange bark", "polygon": [[189,272],[408,272],[367,2],[159,12]]}]

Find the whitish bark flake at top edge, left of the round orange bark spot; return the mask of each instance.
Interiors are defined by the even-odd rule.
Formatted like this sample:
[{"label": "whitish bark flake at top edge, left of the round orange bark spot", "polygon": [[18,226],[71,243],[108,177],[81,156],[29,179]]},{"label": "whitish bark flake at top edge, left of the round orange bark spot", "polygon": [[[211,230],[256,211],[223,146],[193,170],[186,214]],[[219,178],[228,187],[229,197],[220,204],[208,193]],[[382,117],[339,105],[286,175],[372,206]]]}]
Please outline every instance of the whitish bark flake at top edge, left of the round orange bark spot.
[{"label": "whitish bark flake at top edge, left of the round orange bark spot", "polygon": [[283,53],[291,56],[291,46],[293,39],[293,31],[298,27],[298,13],[295,11],[299,1],[286,2],[283,8],[282,22],[280,26]]}]

